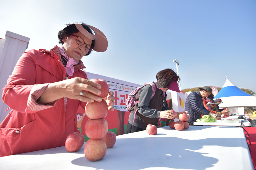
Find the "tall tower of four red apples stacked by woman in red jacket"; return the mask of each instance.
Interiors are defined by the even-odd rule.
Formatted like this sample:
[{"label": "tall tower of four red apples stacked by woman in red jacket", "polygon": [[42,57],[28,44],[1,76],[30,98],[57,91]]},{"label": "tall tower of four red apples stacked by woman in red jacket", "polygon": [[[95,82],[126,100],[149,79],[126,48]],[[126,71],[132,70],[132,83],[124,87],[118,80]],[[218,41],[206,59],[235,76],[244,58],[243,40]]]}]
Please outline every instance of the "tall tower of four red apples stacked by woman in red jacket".
[{"label": "tall tower of four red apples stacked by woman in red jacket", "polygon": [[[101,94],[98,97],[105,98],[109,93],[107,82],[101,79],[91,79],[101,85]],[[103,139],[108,130],[107,121],[104,119],[108,113],[108,106],[105,100],[87,103],[85,106],[86,116],[89,118],[85,123],[85,134],[88,141],[85,143],[85,158],[90,161],[101,160],[107,151],[107,145]]]}]

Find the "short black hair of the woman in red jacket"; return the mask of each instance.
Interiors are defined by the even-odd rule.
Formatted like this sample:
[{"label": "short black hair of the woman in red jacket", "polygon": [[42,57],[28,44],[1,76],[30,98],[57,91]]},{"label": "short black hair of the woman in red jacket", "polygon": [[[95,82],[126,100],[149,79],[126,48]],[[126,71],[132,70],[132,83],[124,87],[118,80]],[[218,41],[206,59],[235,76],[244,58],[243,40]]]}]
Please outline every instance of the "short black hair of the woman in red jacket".
[{"label": "short black hair of the woman in red jacket", "polygon": [[[85,23],[81,22],[80,24],[83,26],[83,28],[86,29],[86,31],[88,31],[89,33],[93,34],[93,32],[91,31],[91,28],[88,27],[87,25],[85,25]],[[70,26],[69,26],[69,27],[66,27],[66,28],[64,28],[64,29],[62,29],[62,30],[60,30],[60,31],[58,32],[59,44],[62,44],[62,45],[64,44],[64,42],[62,41],[62,39],[64,39],[64,38],[70,36],[70,35],[73,34],[73,33],[78,33],[78,32],[79,32],[78,29],[77,29],[77,27],[76,27],[74,24],[73,24],[73,25],[71,25],[71,24],[66,24],[66,25],[70,25]],[[91,43],[91,48],[93,48],[93,47],[94,47],[94,40],[93,40],[92,43]],[[91,53],[91,52],[86,53],[85,56],[88,56],[90,53]]]}]

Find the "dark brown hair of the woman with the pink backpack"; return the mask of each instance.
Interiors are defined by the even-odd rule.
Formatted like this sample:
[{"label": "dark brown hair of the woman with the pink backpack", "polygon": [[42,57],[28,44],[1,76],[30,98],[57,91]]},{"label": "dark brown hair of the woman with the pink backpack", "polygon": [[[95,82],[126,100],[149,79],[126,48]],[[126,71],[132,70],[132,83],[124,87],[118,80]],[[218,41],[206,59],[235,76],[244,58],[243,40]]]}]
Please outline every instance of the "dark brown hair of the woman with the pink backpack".
[{"label": "dark brown hair of the woman with the pink backpack", "polygon": [[160,88],[169,88],[171,82],[180,81],[179,76],[172,69],[164,69],[159,71],[155,76]]}]

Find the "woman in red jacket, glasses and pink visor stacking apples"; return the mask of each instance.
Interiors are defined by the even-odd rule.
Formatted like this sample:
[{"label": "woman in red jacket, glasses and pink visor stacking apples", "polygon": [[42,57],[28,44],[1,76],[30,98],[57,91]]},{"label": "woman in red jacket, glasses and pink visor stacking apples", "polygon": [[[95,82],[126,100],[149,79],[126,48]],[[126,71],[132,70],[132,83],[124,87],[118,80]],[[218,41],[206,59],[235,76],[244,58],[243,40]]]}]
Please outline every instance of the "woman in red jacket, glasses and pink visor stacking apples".
[{"label": "woman in red jacket, glasses and pink visor stacking apples", "polygon": [[[61,47],[23,53],[3,88],[2,100],[12,110],[0,124],[0,156],[64,146],[67,135],[79,132],[79,105],[85,109],[87,102],[102,100],[96,96],[101,86],[88,80],[81,58],[92,49],[104,52],[106,36],[74,23],[58,38]],[[113,94],[106,100],[111,111]]]}]

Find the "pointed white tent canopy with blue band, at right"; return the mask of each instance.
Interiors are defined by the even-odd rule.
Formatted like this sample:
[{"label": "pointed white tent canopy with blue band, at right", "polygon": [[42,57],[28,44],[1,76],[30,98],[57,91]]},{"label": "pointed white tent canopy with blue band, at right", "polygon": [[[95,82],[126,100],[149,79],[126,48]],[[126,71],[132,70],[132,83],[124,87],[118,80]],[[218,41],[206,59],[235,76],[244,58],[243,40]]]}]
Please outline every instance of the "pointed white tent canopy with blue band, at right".
[{"label": "pointed white tent canopy with blue band, at right", "polygon": [[223,107],[256,107],[256,96],[249,95],[242,91],[228,79],[222,86],[214,99],[221,99],[223,103],[219,104],[219,108]]}]

